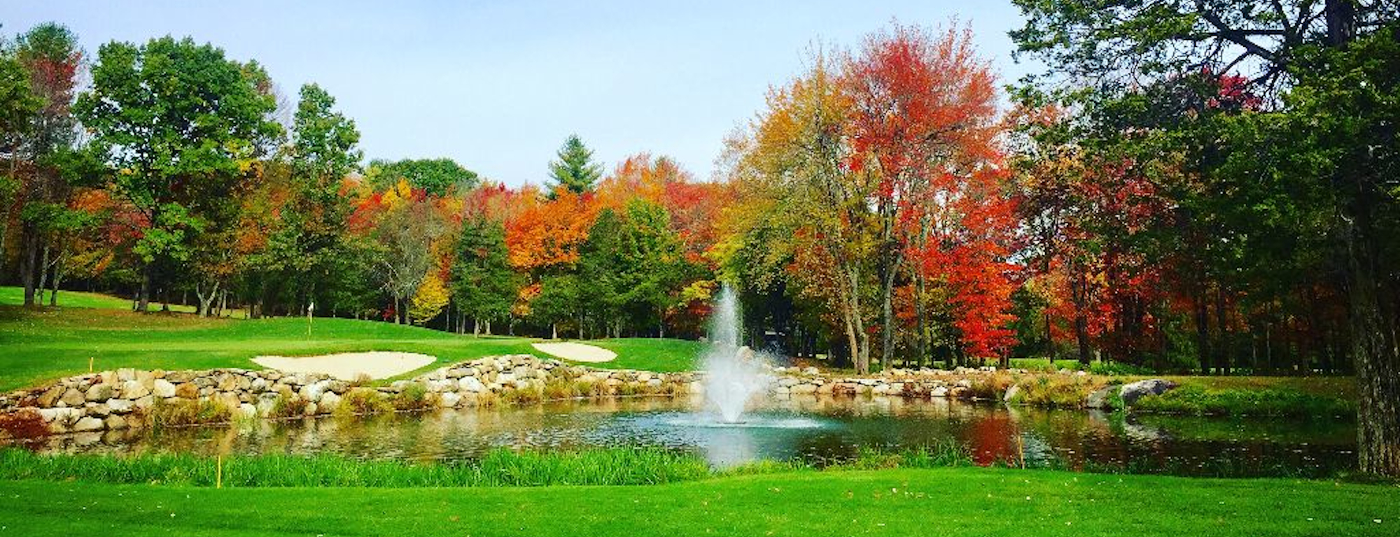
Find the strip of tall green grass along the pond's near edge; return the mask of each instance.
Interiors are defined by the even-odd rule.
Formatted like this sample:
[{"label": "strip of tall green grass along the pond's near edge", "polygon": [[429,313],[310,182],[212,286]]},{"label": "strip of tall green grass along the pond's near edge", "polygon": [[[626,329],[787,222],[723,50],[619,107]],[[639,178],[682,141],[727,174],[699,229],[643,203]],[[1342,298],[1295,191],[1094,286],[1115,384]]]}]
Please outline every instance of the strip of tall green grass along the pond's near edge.
[{"label": "strip of tall green grass along the pond's near edge", "polygon": [[[223,466],[220,477],[218,467]],[[855,457],[820,464],[825,470],[931,468],[970,466],[960,446],[942,445],[903,452],[861,450]],[[409,463],[356,460],[343,456],[286,454],[209,456],[183,453],[38,454],[0,450],[0,480],[91,481],[214,487],[545,487],[651,485],[710,477],[816,470],[811,463],[756,461],[711,468],[693,453],[657,448],[613,448],[581,452],[514,452],[500,449],[475,460]]]}]

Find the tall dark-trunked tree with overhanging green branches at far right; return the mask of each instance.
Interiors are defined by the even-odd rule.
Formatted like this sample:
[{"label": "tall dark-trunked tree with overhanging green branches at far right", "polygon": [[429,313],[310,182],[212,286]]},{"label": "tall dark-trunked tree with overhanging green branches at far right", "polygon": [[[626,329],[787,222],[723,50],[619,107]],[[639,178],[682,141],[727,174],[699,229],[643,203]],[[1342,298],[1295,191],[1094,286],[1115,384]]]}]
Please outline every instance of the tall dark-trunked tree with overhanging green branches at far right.
[{"label": "tall dark-trunked tree with overhanging green branches at far right", "polygon": [[[1077,1],[1018,0],[1016,4],[1026,15],[1025,27],[1012,32],[1021,53],[1049,64],[1056,74],[1049,83],[1070,85],[1065,90],[1071,90],[1071,95],[1088,96],[1079,103],[1112,106],[1131,102],[1141,98],[1138,88],[1158,85],[1184,73],[1238,73],[1243,80],[1239,90],[1261,95],[1264,112],[1277,110],[1284,117],[1295,117],[1310,124],[1310,131],[1352,129],[1348,133],[1352,137],[1340,144],[1316,137],[1275,138],[1302,141],[1299,145],[1309,148],[1299,152],[1299,145],[1294,145],[1292,154],[1352,148],[1355,152],[1340,159],[1345,162],[1345,169],[1278,159],[1266,161],[1273,166],[1254,168],[1264,173],[1222,173],[1215,179],[1225,186],[1218,190],[1225,200],[1231,199],[1235,185],[1257,183],[1260,178],[1294,173],[1296,169],[1305,171],[1305,176],[1329,192],[1330,211],[1323,214],[1336,215],[1334,224],[1343,229],[1336,236],[1334,252],[1345,260],[1343,274],[1348,331],[1352,336],[1350,351],[1362,394],[1358,408],[1361,468],[1375,474],[1400,474],[1400,449],[1396,448],[1400,446],[1400,407],[1393,404],[1400,400],[1400,347],[1394,344],[1394,327],[1400,323],[1396,312],[1400,308],[1393,303],[1393,289],[1400,282],[1393,271],[1379,268],[1393,260],[1393,245],[1386,239],[1394,236],[1386,217],[1393,197],[1385,194],[1387,185],[1393,183],[1393,173],[1389,173],[1389,154],[1378,154],[1375,145],[1361,141],[1385,130],[1376,129],[1389,120],[1389,109],[1358,106],[1385,101],[1375,95],[1392,88],[1389,78],[1379,73],[1386,69],[1383,62],[1390,57],[1386,55],[1393,55],[1386,45],[1393,43],[1389,32],[1400,18],[1400,7],[1390,1],[1355,0],[1109,3],[1092,10]],[[1323,59],[1313,63],[1319,57]],[[1316,73],[1327,73],[1323,80],[1361,77],[1373,85],[1365,85],[1358,94],[1331,87],[1313,77]],[[1327,98],[1312,99],[1309,83]],[[1079,90],[1074,85],[1092,91],[1074,91]],[[1298,95],[1292,95],[1294,88],[1299,90]],[[1177,134],[1184,131],[1176,124],[1156,129]],[[1257,129],[1250,130],[1257,133]],[[1235,134],[1243,133],[1257,141],[1250,130]],[[1218,168],[1221,161],[1210,161],[1215,154],[1224,161],[1231,159],[1215,144],[1205,145],[1207,152],[1197,151],[1190,143],[1183,145],[1179,150],[1207,164],[1196,168],[1197,172],[1224,171]],[[1245,147],[1233,151],[1243,155],[1261,150],[1259,145]],[[1218,310],[1226,309],[1222,302],[1217,302]]]}]

